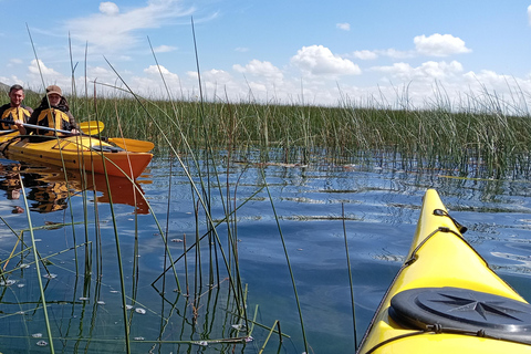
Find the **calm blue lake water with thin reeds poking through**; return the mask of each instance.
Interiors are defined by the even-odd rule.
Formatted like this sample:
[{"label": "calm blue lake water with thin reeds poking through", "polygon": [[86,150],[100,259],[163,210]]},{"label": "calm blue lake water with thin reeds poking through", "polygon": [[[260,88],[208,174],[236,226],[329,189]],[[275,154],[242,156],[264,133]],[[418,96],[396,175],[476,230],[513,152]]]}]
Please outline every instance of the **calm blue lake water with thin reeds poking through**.
[{"label": "calm blue lake water with thin reeds poking through", "polygon": [[[0,259],[14,254],[9,263],[2,262],[4,271],[14,270],[0,287],[0,327],[4,329],[0,334],[0,351],[4,353],[50,352],[50,343],[44,346],[41,342],[49,339],[30,248],[31,235],[21,232],[28,229],[29,220],[20,211],[27,209],[31,210],[34,228],[46,226],[33,230],[33,235],[41,257],[49,257],[46,268],[51,275],[41,266],[41,275],[46,275],[41,280],[53,345],[61,353],[124,351],[123,290],[131,305],[125,312],[131,323],[133,353],[257,353],[275,320],[289,337],[279,345],[279,336],[273,334],[266,352],[304,352],[281,235],[301,303],[309,352],[353,353],[344,235],[353,272],[360,340],[409,248],[427,188],[439,191],[451,215],[469,228],[466,238],[502,278],[531,300],[531,184],[528,181],[458,179],[445,176],[448,171],[406,173],[385,165],[261,166],[277,220],[267,190],[260,189],[259,166],[235,164],[228,173],[225,166],[217,166],[219,180],[204,179],[206,186],[210,185],[209,208],[214,221],[219,222],[225,216],[223,206],[229,202],[233,209],[235,204],[241,205],[236,212],[236,228],[231,219],[230,235],[238,240],[247,316],[256,316],[262,326],[252,327],[253,341],[247,344],[204,346],[199,341],[238,337],[244,332],[237,329],[241,322],[236,315],[233,292],[226,280],[219,247],[216,250],[220,282],[216,271],[209,278],[209,259],[216,264],[216,257],[209,254],[216,250],[214,246],[209,249],[207,239],[201,241],[200,252],[192,250],[186,260],[181,258],[175,263],[181,293],[175,291],[179,285],[173,269],[158,279],[170,263],[165,260],[160,230],[164,233],[168,229],[168,249],[174,260],[183,254],[185,242],[189,247],[196,233],[202,236],[207,230],[205,212],[197,216],[194,212],[197,198],[192,198],[181,167],[174,164],[170,168],[168,160],[155,159],[138,179],[136,192],[122,179],[111,181],[110,192],[98,178],[91,181],[95,183],[96,192],[83,194],[80,176],[69,176],[66,185],[56,169],[29,169],[8,160],[1,163],[0,216],[4,223],[0,228]],[[20,169],[28,206],[18,179]],[[198,181],[196,174],[192,175]],[[140,195],[149,201],[156,218],[149,214],[148,205],[140,201]],[[108,205],[111,198],[113,208]],[[62,225],[72,221],[74,227]],[[227,225],[220,223],[217,233],[223,254],[233,259],[227,247]],[[20,242],[15,235],[21,235]],[[212,239],[210,244],[214,243]],[[85,260],[92,261],[91,268]],[[198,262],[201,268],[195,267]],[[210,281],[216,284],[211,289]],[[187,283],[188,298],[183,294]],[[189,344],[190,341],[196,343]]]}]

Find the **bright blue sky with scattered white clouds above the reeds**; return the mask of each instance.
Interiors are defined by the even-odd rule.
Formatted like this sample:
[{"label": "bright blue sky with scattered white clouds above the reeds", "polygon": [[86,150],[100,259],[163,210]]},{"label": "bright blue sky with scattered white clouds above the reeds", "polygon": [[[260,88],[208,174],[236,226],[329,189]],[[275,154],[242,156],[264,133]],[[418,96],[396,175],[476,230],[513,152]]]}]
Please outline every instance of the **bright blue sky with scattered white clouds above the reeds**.
[{"label": "bright blue sky with scattered white clouds above the reeds", "polygon": [[85,87],[90,95],[118,94],[111,87],[127,85],[148,98],[198,100],[200,79],[204,97],[222,102],[531,103],[531,0],[0,0],[0,82],[40,92],[50,84],[72,92],[74,77],[79,94]]}]

